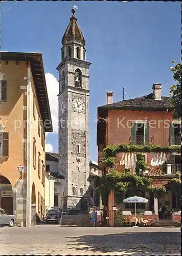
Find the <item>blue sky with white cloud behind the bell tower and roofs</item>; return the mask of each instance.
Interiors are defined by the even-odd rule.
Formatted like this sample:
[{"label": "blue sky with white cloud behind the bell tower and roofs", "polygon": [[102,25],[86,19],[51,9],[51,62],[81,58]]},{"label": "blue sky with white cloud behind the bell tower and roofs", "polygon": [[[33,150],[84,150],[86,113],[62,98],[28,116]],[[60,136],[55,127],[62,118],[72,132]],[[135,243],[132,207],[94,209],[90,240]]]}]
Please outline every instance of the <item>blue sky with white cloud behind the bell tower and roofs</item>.
[{"label": "blue sky with white cloud behind the bell tower and roofs", "polygon": [[53,121],[46,136],[46,151],[58,153],[58,72],[61,39],[72,16],[86,41],[90,66],[89,155],[97,161],[97,108],[113,102],[147,95],[152,84],[162,83],[168,96],[174,83],[169,67],[180,61],[181,22],[177,2],[1,2],[1,50],[40,52]]}]

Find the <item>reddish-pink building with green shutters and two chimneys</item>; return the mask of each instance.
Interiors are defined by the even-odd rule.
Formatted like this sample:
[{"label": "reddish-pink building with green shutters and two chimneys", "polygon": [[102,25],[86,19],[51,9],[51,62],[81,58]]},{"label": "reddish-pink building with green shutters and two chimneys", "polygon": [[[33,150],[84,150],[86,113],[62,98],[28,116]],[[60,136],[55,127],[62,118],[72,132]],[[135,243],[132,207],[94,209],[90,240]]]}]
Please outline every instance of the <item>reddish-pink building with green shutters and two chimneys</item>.
[{"label": "reddish-pink building with green shutters and two chimneys", "polygon": [[[169,97],[163,97],[161,84],[153,84],[153,92],[139,98],[112,102],[112,92],[107,92],[107,105],[98,108],[97,145],[99,172],[106,173],[102,166],[101,152],[111,144],[134,145],[180,145],[180,120],[173,120],[173,108]],[[180,154],[172,153],[143,153],[148,165],[145,175],[152,178],[153,185],[165,185],[180,172]],[[135,174],[137,154],[117,154],[116,164],[119,172],[129,168]],[[162,164],[166,169],[161,172]],[[164,197],[154,198],[153,193],[144,193],[143,197],[149,199],[149,204],[141,204],[141,211],[152,210],[158,213],[158,205],[165,204],[169,209],[180,209],[180,197],[166,193]],[[112,197],[112,206],[115,206]],[[122,209],[131,209],[130,204],[120,205]]]}]

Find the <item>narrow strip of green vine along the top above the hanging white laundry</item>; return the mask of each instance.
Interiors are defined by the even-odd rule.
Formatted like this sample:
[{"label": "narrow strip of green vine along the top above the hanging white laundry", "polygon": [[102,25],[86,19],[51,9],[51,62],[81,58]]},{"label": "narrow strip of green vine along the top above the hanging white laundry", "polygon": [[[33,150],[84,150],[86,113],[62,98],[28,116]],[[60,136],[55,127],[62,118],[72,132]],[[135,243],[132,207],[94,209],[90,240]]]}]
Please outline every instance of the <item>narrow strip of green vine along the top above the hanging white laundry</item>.
[{"label": "narrow strip of green vine along the top above the hanging white laundry", "polygon": [[[108,145],[104,148],[102,153],[102,163],[105,167],[113,168],[115,166],[115,157],[118,153],[130,152],[130,153],[180,153],[180,146],[161,146],[161,145],[133,145],[133,144],[118,144]],[[142,169],[147,169],[143,165]]]}]

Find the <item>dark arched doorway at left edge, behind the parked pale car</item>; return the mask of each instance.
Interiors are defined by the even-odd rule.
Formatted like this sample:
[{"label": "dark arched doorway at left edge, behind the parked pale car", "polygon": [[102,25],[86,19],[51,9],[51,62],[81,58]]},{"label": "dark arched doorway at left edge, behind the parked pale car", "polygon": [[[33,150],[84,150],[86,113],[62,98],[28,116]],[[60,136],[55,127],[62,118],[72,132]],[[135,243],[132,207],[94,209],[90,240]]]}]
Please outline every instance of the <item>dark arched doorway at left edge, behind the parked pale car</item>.
[{"label": "dark arched doorway at left edge, behind the parked pale car", "polygon": [[0,207],[6,214],[13,214],[13,190],[10,181],[3,175],[0,175]]}]

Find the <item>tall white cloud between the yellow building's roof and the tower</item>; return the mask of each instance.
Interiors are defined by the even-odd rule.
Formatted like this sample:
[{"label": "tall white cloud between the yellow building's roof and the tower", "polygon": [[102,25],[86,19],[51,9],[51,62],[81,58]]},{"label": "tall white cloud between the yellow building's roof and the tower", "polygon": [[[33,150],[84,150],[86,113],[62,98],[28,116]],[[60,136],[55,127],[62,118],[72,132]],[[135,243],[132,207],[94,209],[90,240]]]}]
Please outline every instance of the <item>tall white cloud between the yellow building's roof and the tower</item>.
[{"label": "tall white cloud between the yellow building's roof and the tower", "polygon": [[[53,133],[58,134],[58,93],[59,82],[53,74],[45,74],[45,80],[47,84],[49,104],[51,109],[51,117],[53,123]],[[47,134],[45,134],[45,137]]]}]

